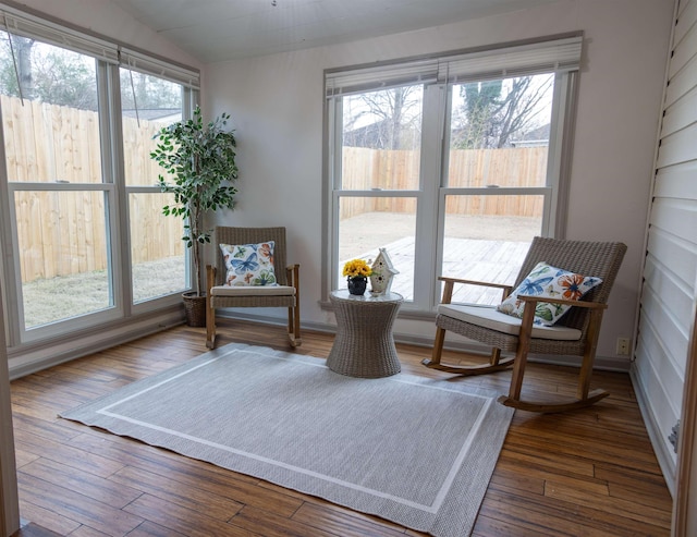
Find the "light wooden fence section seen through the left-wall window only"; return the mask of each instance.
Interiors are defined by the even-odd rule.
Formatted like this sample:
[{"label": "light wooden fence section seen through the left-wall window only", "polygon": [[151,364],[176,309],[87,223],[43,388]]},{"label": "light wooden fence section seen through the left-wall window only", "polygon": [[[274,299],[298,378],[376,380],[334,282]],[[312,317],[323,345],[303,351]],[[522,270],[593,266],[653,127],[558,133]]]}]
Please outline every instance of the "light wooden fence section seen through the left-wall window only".
[{"label": "light wooden fence section seen through the left-wall window only", "polygon": [[[17,183],[103,183],[97,112],[0,96],[8,178]],[[160,168],[150,159],[152,136],[163,126],[123,118],[124,172],[129,186],[155,185]],[[15,191],[22,280],[105,270],[108,265],[103,192]],[[133,264],[184,254],[182,221],[162,216],[171,196],[129,196]],[[162,237],[172,237],[171,241]]]}]

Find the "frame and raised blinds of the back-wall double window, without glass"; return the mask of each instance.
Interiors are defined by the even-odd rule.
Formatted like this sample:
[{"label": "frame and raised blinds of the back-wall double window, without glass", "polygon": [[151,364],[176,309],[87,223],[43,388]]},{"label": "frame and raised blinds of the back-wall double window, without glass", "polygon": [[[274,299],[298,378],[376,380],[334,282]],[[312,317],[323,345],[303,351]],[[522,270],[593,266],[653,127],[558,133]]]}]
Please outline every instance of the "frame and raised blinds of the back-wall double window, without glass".
[{"label": "frame and raised blinds of the back-wall double window, without glass", "polygon": [[[499,47],[443,53],[437,58],[412,58],[383,65],[357,65],[345,70],[325,72],[325,151],[323,190],[325,210],[323,265],[321,305],[328,307],[329,293],[339,286],[339,200],[342,197],[416,197],[415,281],[432,282],[415,285],[414,298],[404,303],[401,316],[431,318],[440,300],[437,281],[443,259],[445,199],[453,194],[542,195],[545,236],[563,237],[565,234],[567,193],[573,145],[572,129],[575,119],[576,95],[583,34],[551,36],[539,40],[503,44]],[[563,49],[563,50],[562,50]],[[526,54],[534,58],[526,66]],[[506,58],[513,58],[511,69]],[[435,76],[428,71],[437,65]],[[481,72],[481,65],[494,65],[498,71]],[[451,66],[454,66],[451,71]],[[487,68],[488,69],[488,68]],[[478,71],[479,70],[479,71]],[[391,73],[398,73],[390,78]],[[547,162],[547,184],[540,187],[460,188],[447,185],[449,118],[451,91],[454,84],[464,82],[513,77],[525,74],[554,73],[553,105]],[[342,98],[371,89],[424,84],[421,169],[418,191],[342,191]],[[437,178],[426,181],[425,178]]]}]

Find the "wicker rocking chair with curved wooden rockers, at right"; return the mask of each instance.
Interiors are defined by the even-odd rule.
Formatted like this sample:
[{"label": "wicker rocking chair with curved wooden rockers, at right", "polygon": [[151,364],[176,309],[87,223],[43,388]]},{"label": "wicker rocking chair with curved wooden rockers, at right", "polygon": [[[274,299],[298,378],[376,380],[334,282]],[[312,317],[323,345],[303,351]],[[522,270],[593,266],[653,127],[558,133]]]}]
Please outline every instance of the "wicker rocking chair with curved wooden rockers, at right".
[{"label": "wicker rocking chair with curved wooden rockers, at right", "polygon": [[[626,246],[614,242],[584,242],[535,237],[513,285],[492,284],[456,278],[439,278],[444,282],[443,296],[436,317],[436,340],[430,359],[424,365],[457,375],[482,375],[513,366],[509,395],[499,398],[506,406],[534,412],[561,412],[600,401],[604,390],[589,392],[590,376],[596,356],[602,314],[614,283]],[[493,307],[451,304],[456,283],[500,288],[503,298],[526,278],[533,268],[545,261],[558,268],[584,276],[600,278],[602,283],[583,296],[583,301],[567,301],[540,296],[521,296],[525,303],[523,318],[497,312]],[[572,308],[552,327],[534,326],[537,303],[568,304]],[[445,331],[452,331],[490,345],[488,363],[477,366],[454,366],[441,363]],[[514,353],[502,358],[501,352]],[[521,389],[528,353],[583,356],[575,399],[524,401]],[[465,353],[467,357],[481,354]]]}]

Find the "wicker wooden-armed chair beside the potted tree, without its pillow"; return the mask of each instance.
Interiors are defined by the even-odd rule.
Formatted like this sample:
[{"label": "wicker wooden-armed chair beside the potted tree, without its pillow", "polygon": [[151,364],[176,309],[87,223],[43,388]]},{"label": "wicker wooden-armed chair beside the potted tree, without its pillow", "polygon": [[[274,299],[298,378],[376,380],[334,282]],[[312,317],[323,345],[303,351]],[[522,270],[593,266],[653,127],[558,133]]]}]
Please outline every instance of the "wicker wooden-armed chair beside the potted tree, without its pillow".
[{"label": "wicker wooden-armed chair beside the potted tree, without its pillow", "polygon": [[[273,241],[273,269],[278,285],[225,285],[228,269],[219,244],[258,244]],[[285,228],[216,228],[216,267],[206,267],[206,346],[216,346],[216,309],[221,307],[286,307],[291,346],[299,346],[299,266],[286,265]]]}]

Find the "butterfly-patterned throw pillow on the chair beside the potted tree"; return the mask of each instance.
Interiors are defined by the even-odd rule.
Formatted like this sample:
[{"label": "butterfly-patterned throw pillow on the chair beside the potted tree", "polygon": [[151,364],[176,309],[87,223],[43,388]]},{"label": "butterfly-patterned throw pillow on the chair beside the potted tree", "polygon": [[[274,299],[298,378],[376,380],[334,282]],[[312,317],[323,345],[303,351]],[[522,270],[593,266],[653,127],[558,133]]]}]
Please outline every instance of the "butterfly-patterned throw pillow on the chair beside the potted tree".
[{"label": "butterfly-patterned throw pillow on the chair beside the potted tree", "polygon": [[221,244],[228,268],[225,285],[278,285],[273,272],[273,241],[259,244]]}]

